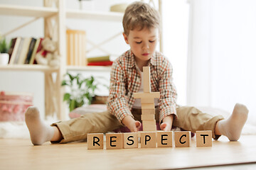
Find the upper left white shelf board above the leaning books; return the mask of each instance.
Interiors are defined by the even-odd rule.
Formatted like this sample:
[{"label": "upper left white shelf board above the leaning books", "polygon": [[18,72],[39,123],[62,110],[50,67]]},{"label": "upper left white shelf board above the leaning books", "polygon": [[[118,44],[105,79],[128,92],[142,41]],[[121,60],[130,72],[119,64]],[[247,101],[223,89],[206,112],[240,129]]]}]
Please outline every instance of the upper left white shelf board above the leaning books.
[{"label": "upper left white shelf board above the leaning books", "polygon": [[35,6],[14,6],[0,4],[0,15],[8,16],[32,16],[48,17],[58,13],[57,8],[35,7]]}]

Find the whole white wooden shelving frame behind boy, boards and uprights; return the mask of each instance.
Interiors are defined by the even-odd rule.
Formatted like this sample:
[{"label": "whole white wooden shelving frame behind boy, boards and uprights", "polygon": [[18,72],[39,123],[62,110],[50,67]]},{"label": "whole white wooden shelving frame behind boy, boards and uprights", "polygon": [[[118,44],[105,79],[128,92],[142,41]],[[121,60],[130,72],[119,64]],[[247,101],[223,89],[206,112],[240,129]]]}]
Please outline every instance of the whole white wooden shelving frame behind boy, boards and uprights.
[{"label": "whole white wooden shelving frame behind boy, boards and uprights", "polygon": [[[149,0],[153,1],[153,0]],[[89,19],[97,21],[116,21],[122,22],[123,13],[101,12],[101,11],[80,11],[65,8],[65,0],[43,0],[43,7],[36,6],[17,6],[0,4],[0,15],[5,16],[26,16],[34,17],[28,23],[9,31],[12,33],[29,23],[36,21],[38,18],[44,19],[44,36],[50,37],[58,42],[58,55],[60,56],[59,67],[48,67],[43,65],[7,65],[0,66],[0,70],[5,71],[29,71],[43,72],[45,75],[45,104],[46,115],[57,114],[60,120],[65,120],[65,103],[63,102],[64,88],[60,86],[63,75],[68,71],[110,71],[110,67],[73,67],[66,66],[66,26],[67,18],[73,19]],[[53,6],[57,7],[53,7]],[[161,0],[159,0],[159,10],[161,13]],[[53,22],[52,22],[53,21]],[[55,25],[53,25],[55,24]],[[55,31],[55,33],[54,33]],[[9,34],[8,33],[8,34]],[[21,35],[22,36],[22,35]],[[161,40],[160,40],[161,41]],[[161,42],[160,42],[161,50]],[[53,74],[57,74],[53,79]]]}]

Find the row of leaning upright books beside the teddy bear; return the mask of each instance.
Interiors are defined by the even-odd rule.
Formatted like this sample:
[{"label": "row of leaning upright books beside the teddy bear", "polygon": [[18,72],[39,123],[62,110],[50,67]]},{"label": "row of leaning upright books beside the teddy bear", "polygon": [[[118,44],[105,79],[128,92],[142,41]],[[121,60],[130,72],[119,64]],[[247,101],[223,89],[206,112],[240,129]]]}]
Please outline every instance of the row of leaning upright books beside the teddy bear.
[{"label": "row of leaning upright books beside the teddy bear", "polygon": [[13,38],[9,49],[9,64],[36,64],[36,53],[42,49],[43,38]]}]

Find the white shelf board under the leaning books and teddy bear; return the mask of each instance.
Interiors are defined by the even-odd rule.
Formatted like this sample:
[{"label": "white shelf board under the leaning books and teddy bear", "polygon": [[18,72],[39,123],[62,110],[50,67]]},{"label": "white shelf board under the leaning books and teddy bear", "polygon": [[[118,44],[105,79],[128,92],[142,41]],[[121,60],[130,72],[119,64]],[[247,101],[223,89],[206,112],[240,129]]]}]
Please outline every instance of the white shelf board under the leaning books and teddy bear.
[{"label": "white shelf board under the leaning books and teddy bear", "polygon": [[36,71],[36,72],[57,72],[58,67],[49,67],[39,64],[5,65],[0,66],[4,71]]}]

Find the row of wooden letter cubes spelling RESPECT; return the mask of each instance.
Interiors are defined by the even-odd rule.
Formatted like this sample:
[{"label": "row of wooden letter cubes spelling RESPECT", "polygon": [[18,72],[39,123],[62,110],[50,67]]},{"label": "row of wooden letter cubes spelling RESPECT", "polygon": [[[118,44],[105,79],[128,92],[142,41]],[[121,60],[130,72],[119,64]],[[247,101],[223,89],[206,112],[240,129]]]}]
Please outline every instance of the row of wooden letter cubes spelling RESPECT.
[{"label": "row of wooden letter cubes spelling RESPECT", "polygon": [[[139,136],[141,148],[154,147],[191,147],[191,131],[156,131],[156,132],[127,132],[107,133],[106,149],[138,148]],[[103,133],[87,134],[87,149],[104,148]],[[196,131],[196,146],[211,147],[212,131]]]}]

